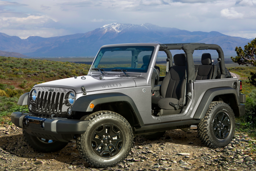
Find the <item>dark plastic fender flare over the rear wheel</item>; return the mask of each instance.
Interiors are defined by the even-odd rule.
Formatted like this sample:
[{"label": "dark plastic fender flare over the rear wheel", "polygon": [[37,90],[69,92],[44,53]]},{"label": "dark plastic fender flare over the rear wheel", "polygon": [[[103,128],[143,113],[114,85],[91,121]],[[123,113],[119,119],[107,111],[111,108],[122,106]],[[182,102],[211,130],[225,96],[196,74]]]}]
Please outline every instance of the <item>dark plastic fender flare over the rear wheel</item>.
[{"label": "dark plastic fender flare over the rear wheel", "polygon": [[218,88],[211,88],[204,93],[193,119],[202,119],[205,116],[211,102],[213,101],[213,98],[215,96],[225,95],[225,94],[234,95],[236,105],[237,105],[237,108],[233,108],[235,116],[243,116],[245,114],[245,108],[244,108],[244,104],[241,104],[239,101],[237,90],[231,87],[218,87]]}]

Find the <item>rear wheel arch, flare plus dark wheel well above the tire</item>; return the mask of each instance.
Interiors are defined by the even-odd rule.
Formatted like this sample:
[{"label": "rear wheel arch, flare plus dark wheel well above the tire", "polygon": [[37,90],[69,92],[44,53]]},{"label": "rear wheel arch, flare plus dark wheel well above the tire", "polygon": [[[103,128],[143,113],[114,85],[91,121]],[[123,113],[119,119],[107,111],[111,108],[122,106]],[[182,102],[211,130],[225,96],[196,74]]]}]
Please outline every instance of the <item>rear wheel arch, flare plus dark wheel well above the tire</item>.
[{"label": "rear wheel arch, flare plus dark wheel well above the tire", "polygon": [[231,87],[218,87],[204,93],[193,119],[202,119],[212,101],[223,101],[229,104],[236,117],[243,115],[244,104],[240,103],[237,91]]}]

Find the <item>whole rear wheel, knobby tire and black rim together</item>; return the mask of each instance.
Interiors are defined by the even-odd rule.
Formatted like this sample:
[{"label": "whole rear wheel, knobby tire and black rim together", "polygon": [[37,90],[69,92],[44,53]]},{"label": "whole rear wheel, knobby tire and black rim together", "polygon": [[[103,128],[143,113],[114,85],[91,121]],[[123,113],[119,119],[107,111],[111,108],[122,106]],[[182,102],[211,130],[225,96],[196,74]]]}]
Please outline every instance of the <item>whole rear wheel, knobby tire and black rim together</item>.
[{"label": "whole rear wheel, knobby tire and black rim together", "polygon": [[227,146],[235,131],[233,110],[224,102],[213,101],[197,129],[204,145],[212,148]]}]

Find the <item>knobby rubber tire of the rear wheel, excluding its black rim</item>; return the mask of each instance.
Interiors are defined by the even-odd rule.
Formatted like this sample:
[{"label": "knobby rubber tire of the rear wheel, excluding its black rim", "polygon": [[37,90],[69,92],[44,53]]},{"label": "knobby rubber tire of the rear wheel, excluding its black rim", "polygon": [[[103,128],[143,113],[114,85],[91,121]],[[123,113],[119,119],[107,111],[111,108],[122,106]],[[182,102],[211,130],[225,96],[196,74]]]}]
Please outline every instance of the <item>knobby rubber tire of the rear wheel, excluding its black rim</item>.
[{"label": "knobby rubber tire of the rear wheel, excluding its black rim", "polygon": [[[215,136],[214,128],[213,128],[216,122],[214,120],[216,119],[217,115],[221,115],[222,113],[227,115],[230,121],[230,125],[229,125],[230,131],[226,137],[222,137],[224,139],[217,138]],[[223,120],[225,120],[225,118]],[[219,102],[219,101],[211,102],[204,118],[201,119],[201,122],[197,125],[197,129],[198,129],[198,136],[201,142],[205,146],[208,146],[211,148],[221,148],[221,147],[227,146],[232,140],[232,137],[235,131],[235,116],[234,116],[233,110],[230,108],[228,104],[224,102]]]}]

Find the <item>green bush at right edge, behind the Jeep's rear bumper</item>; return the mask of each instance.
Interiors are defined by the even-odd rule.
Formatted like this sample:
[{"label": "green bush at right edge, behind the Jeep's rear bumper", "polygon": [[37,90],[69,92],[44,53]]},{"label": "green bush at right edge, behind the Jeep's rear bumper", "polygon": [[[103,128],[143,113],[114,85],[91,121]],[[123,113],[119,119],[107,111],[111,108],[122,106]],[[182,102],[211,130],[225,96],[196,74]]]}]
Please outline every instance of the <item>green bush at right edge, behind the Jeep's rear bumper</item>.
[{"label": "green bush at right edge, behind the Jeep's rear bumper", "polygon": [[252,90],[246,96],[246,104],[245,104],[245,115],[243,119],[245,122],[251,124],[252,127],[256,127],[256,90]]}]

